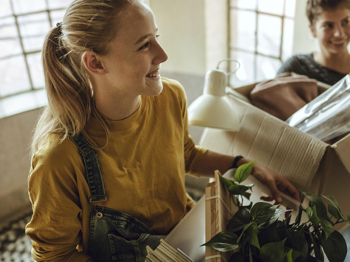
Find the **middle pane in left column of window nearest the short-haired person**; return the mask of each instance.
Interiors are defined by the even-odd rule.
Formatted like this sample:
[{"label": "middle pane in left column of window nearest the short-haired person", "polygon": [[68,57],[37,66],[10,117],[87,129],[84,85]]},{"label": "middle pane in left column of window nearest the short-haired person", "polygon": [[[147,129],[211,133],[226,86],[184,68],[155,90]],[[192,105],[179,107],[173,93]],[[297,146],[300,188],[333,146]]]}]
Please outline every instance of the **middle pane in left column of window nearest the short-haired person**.
[{"label": "middle pane in left column of window nearest the short-haired person", "polygon": [[255,51],[255,12],[231,10],[230,46]]}]

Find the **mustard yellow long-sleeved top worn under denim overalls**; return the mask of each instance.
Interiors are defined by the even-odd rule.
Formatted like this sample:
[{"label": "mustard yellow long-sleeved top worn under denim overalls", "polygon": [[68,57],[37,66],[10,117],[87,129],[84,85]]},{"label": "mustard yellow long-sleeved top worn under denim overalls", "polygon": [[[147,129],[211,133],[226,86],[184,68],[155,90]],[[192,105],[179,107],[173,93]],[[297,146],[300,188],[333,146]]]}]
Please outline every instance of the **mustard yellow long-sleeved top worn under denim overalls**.
[{"label": "mustard yellow long-sleeved top worn under denim overalls", "polygon": [[[159,235],[167,234],[193,206],[184,176],[197,174],[206,151],[188,134],[183,87],[175,80],[162,82],[158,96],[142,96],[134,114],[110,121],[109,142],[97,150],[108,200],[103,206],[132,215]],[[106,141],[94,117],[83,133],[97,145]],[[70,139],[59,143],[57,135],[50,135],[32,157],[28,182],[34,214],[26,233],[34,259],[86,261],[93,206],[75,144]]]}]

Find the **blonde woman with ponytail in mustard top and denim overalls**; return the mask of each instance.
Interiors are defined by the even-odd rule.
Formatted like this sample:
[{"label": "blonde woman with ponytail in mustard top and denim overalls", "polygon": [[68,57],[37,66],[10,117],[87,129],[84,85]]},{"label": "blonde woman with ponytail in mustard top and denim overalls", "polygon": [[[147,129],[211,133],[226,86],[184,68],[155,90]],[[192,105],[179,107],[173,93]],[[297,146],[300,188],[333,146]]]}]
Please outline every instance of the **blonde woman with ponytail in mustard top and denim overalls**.
[{"label": "blonde woman with ponytail in mustard top and denim overalls", "polygon": [[[139,0],[75,0],[48,33],[28,178],[35,260],[143,262],[193,206],[185,174],[231,167],[191,140],[183,87],[159,75],[167,59]],[[252,175],[276,202],[278,189],[299,200],[276,172],[255,163]]]}]

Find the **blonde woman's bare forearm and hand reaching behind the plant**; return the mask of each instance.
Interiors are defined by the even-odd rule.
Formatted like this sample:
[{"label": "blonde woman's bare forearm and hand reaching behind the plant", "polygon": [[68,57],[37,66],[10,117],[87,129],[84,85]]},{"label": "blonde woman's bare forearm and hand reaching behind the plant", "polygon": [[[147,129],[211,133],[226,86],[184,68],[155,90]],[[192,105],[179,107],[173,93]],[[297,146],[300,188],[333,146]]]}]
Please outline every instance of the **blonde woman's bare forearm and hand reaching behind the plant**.
[{"label": "blonde woman's bare forearm and hand reaching behind the plant", "polygon": [[[202,157],[198,173],[200,176],[213,177],[214,171],[219,170],[221,174],[224,174],[229,170],[234,159],[234,156],[223,155],[208,150]],[[251,160],[248,160],[247,158],[241,158],[237,162],[237,165],[240,166],[250,161]],[[297,201],[300,200],[299,191],[288,181],[287,178],[280,174],[260,165],[259,163],[254,163],[251,174],[270,189],[272,197],[276,203],[282,202],[279,191],[288,194]]]}]

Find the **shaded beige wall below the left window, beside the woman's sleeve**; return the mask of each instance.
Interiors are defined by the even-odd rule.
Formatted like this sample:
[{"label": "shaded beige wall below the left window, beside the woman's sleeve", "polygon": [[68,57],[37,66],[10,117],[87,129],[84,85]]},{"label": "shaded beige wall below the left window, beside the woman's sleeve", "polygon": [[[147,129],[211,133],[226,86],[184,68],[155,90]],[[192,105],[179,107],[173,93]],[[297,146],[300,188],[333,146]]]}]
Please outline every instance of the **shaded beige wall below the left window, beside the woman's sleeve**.
[{"label": "shaded beige wall below the left window, beside the woman's sleeve", "polygon": [[29,144],[39,113],[34,109],[0,119],[0,224],[30,207]]}]

